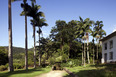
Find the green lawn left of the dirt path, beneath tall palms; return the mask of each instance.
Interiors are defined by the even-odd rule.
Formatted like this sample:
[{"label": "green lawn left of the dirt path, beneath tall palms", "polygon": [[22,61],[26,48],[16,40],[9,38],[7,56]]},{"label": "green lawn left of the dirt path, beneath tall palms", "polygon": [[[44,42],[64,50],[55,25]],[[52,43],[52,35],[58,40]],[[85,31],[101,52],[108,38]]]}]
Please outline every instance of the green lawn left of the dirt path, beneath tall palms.
[{"label": "green lawn left of the dirt path, beneath tall palms", "polygon": [[42,73],[47,73],[51,70],[51,68],[36,68],[36,69],[29,69],[26,70],[15,70],[14,72],[0,71],[0,77],[35,77]]}]

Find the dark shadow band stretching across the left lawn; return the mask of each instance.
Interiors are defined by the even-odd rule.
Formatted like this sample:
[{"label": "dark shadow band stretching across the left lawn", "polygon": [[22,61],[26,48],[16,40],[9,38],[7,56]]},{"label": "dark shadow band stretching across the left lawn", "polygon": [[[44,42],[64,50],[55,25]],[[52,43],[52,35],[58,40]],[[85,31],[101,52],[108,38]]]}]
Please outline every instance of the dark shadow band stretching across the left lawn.
[{"label": "dark shadow band stretching across the left lawn", "polygon": [[41,68],[36,68],[36,69],[28,69],[28,70],[16,70],[14,72],[6,72],[6,73],[0,73],[0,77],[10,77],[11,75],[14,74],[28,74],[32,73],[35,71],[43,71]]}]

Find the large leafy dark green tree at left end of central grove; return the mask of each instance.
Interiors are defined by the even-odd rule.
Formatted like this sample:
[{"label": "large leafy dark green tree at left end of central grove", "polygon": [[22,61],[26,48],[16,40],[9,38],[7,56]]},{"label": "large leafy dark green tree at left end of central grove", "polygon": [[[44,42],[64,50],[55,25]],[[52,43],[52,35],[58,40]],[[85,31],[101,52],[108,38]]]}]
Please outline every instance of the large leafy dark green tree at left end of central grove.
[{"label": "large leafy dark green tree at left end of central grove", "polygon": [[66,41],[67,31],[66,31],[67,23],[65,21],[58,20],[56,21],[55,27],[51,30],[51,38],[54,41],[60,43],[60,50],[63,51],[63,45]]}]

